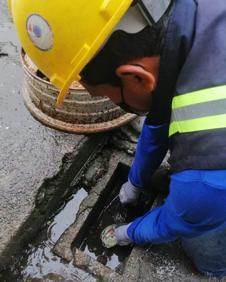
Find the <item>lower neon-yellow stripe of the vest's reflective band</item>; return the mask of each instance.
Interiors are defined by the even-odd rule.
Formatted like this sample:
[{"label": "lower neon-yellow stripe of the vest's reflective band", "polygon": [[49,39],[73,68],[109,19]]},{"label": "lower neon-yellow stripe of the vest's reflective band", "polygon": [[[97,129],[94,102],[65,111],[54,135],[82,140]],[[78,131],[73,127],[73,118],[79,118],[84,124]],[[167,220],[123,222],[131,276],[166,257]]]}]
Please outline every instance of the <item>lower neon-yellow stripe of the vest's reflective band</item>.
[{"label": "lower neon-yellow stripe of the vest's reflective band", "polygon": [[169,136],[176,132],[185,133],[224,127],[226,127],[226,114],[200,117],[177,122],[173,121],[170,124]]}]

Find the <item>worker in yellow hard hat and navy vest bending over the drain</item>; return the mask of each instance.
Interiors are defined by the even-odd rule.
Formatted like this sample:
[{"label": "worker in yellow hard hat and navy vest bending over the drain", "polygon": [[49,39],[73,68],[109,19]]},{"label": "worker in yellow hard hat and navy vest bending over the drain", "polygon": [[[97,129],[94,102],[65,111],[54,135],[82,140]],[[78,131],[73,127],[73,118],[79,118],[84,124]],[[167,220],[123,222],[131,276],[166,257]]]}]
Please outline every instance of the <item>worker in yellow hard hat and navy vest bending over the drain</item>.
[{"label": "worker in yellow hard hat and navy vest bending over the drain", "polygon": [[168,147],[165,203],[116,226],[117,244],[181,238],[196,267],[226,273],[226,1],[9,0],[22,46],[60,89],[73,80],[146,116],[119,197],[138,203]]}]

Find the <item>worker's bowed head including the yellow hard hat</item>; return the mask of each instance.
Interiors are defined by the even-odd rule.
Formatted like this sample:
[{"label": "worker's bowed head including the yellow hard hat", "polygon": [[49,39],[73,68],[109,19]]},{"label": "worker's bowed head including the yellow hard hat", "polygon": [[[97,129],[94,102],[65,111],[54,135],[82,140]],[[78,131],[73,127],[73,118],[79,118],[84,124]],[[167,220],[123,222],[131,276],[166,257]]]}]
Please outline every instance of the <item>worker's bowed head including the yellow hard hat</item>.
[{"label": "worker's bowed head including the yellow hard hat", "polygon": [[25,52],[60,89],[58,107],[82,77],[92,95],[149,109],[171,0],[8,2]]}]

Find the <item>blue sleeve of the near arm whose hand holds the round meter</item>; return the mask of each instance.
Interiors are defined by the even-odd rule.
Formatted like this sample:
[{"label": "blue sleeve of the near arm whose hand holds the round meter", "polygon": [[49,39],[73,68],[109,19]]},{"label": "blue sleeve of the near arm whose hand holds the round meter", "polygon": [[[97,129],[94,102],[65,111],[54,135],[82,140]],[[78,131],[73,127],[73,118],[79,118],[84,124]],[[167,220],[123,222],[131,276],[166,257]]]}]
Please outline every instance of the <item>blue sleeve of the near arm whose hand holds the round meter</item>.
[{"label": "blue sleeve of the near arm whose hand holds the round meter", "polygon": [[225,169],[189,169],[173,174],[164,205],[135,219],[127,235],[137,244],[158,244],[225,227],[225,174]]}]

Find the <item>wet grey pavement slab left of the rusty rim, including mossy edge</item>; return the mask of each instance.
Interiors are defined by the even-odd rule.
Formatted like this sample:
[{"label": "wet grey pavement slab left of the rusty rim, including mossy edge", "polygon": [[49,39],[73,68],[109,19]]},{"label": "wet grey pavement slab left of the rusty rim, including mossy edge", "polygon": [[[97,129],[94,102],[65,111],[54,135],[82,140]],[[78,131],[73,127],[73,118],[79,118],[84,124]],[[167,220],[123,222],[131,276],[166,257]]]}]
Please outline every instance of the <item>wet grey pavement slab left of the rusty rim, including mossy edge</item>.
[{"label": "wet grey pavement slab left of the rusty rim, including mossy edge", "polygon": [[103,138],[59,132],[30,115],[22,100],[20,48],[7,1],[0,0],[0,270],[58,207],[72,172]]}]

